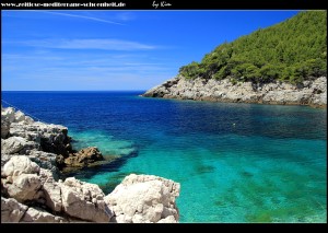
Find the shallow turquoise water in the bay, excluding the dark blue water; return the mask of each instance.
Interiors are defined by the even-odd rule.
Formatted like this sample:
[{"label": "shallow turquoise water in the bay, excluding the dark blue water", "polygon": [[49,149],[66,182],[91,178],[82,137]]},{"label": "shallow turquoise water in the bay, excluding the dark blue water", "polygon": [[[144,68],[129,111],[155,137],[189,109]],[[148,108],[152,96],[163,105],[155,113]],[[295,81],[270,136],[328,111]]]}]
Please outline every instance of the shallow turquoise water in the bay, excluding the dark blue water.
[{"label": "shallow turquoise water in the bay, excluding the dark blue water", "polygon": [[[326,221],[325,141],[198,137],[177,138],[168,145],[161,136],[163,141],[130,158],[119,171],[96,172],[84,180],[106,187],[130,173],[173,178],[181,184],[177,201],[181,222]],[[133,149],[129,141],[113,139],[92,144],[108,152],[122,149],[122,154]]]}]

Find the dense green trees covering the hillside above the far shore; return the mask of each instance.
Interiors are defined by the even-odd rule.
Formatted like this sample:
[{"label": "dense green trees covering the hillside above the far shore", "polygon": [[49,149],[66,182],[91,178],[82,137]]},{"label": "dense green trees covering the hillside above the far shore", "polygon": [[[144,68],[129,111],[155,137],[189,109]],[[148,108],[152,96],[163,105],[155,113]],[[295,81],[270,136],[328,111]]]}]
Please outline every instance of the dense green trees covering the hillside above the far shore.
[{"label": "dense green trees covering the hillside above the far shore", "polygon": [[327,74],[327,11],[306,11],[224,43],[201,62],[179,69],[187,79],[300,83]]}]

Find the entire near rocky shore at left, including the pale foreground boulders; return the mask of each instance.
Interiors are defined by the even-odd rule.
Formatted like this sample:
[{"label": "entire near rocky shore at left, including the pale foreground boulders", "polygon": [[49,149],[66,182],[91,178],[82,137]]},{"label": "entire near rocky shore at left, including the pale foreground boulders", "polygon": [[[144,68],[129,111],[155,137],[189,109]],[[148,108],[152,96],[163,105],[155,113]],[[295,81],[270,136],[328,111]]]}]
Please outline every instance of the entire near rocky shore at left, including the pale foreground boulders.
[{"label": "entire near rocky shore at left, including the pale foreground boulders", "polygon": [[108,195],[59,179],[63,167],[103,160],[96,148],[72,150],[68,128],[1,107],[1,222],[178,222],[180,185],[171,179],[131,174]]}]

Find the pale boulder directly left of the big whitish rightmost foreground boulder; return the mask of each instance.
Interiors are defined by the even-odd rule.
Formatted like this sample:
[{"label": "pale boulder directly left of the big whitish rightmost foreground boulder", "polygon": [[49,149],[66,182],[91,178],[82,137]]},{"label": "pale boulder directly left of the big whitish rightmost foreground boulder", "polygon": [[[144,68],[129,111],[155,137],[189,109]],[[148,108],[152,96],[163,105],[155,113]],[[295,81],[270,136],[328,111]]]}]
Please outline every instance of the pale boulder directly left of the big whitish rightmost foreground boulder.
[{"label": "pale boulder directly left of the big whitish rightmost foreground boulder", "polygon": [[70,217],[92,222],[109,222],[113,212],[104,201],[104,193],[97,185],[80,182],[74,177],[59,183],[62,208]]}]

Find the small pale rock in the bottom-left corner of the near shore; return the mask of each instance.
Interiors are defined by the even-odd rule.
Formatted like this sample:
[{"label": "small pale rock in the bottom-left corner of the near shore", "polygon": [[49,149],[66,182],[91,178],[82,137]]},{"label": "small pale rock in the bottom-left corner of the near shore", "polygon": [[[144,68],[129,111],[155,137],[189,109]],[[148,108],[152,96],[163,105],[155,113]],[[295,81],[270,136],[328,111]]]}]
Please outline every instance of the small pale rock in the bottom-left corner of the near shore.
[{"label": "small pale rock in the bottom-left corner of the near shore", "polygon": [[1,222],[20,222],[27,209],[13,198],[1,197]]}]

